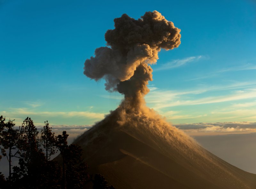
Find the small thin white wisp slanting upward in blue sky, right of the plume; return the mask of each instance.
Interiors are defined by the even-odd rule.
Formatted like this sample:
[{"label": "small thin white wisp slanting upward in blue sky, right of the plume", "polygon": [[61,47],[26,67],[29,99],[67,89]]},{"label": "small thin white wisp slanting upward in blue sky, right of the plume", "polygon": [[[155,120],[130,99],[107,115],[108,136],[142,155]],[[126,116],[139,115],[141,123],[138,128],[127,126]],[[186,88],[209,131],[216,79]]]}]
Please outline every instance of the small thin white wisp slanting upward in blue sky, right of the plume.
[{"label": "small thin white wisp slanting upward in blue sky, right of the plume", "polygon": [[189,62],[196,62],[202,58],[204,58],[204,56],[200,55],[200,56],[190,56],[183,59],[172,60],[171,62],[159,65],[159,67],[154,68],[154,71],[177,68]]}]

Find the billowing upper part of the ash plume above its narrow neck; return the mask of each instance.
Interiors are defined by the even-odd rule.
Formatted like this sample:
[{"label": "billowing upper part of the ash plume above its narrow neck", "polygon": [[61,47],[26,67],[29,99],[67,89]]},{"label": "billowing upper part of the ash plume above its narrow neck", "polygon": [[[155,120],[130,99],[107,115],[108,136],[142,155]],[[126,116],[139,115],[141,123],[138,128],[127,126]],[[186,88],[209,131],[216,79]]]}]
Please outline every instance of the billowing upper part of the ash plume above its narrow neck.
[{"label": "billowing upper part of the ash plume above its narrow neck", "polygon": [[170,50],[180,45],[180,29],[157,11],[146,12],[135,20],[123,14],[115,18],[115,29],[105,33],[110,47],[95,50],[95,57],[84,63],[84,74],[96,81],[104,78],[108,91],[125,97],[148,93],[152,69],[161,48]]}]

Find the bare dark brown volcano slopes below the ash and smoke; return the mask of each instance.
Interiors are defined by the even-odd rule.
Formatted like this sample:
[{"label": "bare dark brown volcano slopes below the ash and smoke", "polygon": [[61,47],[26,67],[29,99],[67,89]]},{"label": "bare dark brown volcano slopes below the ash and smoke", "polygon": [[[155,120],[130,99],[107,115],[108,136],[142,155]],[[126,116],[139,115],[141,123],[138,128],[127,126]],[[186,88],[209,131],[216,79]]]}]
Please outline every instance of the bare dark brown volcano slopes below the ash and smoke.
[{"label": "bare dark brown volcano slopes below the ash and smoke", "polygon": [[164,121],[162,127],[169,131],[161,136],[160,127],[119,126],[117,115],[112,112],[75,141],[84,149],[90,172],[104,175],[116,188],[256,187],[256,175],[214,156]]}]

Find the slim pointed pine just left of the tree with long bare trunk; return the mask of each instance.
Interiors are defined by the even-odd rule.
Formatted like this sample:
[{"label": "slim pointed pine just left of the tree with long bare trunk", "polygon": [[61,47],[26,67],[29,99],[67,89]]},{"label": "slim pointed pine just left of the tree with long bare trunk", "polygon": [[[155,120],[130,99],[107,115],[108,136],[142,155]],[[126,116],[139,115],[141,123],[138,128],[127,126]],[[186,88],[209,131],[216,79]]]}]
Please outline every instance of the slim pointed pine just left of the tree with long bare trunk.
[{"label": "slim pointed pine just left of the tree with long bare trunk", "polygon": [[49,127],[48,121],[44,121],[44,129],[41,130],[40,143],[45,149],[46,160],[56,153],[56,138],[52,133],[52,127]]}]

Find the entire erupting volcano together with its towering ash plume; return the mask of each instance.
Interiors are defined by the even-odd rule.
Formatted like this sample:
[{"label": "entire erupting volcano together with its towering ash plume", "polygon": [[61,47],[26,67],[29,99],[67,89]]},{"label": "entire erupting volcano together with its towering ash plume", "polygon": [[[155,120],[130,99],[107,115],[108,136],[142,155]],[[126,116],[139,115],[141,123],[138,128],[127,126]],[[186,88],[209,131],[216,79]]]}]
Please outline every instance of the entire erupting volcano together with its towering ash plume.
[{"label": "entire erupting volcano together with its towering ash plume", "polygon": [[86,76],[124,94],[116,110],[75,141],[91,172],[119,189],[256,188],[254,174],[214,156],[146,107],[150,64],[161,48],[180,45],[180,29],[157,11],[138,20],[123,14],[114,22],[105,34],[109,47],[97,48],[84,63]]}]

